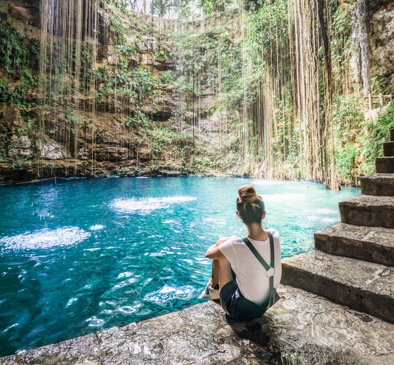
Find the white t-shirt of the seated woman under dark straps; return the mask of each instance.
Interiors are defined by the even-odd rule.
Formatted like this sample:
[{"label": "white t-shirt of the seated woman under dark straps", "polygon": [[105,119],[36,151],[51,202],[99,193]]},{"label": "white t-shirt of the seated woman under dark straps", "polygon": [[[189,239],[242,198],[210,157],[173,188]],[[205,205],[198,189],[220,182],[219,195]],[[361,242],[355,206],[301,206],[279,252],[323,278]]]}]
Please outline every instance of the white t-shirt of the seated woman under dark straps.
[{"label": "white t-shirt of the seated woman under dark straps", "polygon": [[[270,232],[273,237],[275,253],[273,286],[277,289],[282,275],[281,240],[277,230],[269,228],[267,232]],[[271,262],[269,239],[266,241],[256,241],[249,237],[248,239],[269,265]],[[254,301],[256,304],[263,303],[269,295],[267,271],[257,260],[256,256],[253,255],[249,247],[242,241],[242,238],[234,238],[223,242],[219,246],[219,250],[230,261],[232,270],[236,274],[238,288],[243,296],[246,299]]]}]

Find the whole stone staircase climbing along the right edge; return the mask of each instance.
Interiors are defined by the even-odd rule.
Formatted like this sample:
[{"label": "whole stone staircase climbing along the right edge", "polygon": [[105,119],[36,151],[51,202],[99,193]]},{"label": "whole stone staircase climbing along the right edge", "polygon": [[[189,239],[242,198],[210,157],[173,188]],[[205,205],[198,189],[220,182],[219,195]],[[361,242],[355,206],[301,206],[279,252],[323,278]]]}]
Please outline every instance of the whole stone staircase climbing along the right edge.
[{"label": "whole stone staircase climbing along the right edge", "polygon": [[282,260],[282,283],[394,323],[394,129],[361,178],[360,197],[339,203],[342,223],[315,233],[315,249]]}]

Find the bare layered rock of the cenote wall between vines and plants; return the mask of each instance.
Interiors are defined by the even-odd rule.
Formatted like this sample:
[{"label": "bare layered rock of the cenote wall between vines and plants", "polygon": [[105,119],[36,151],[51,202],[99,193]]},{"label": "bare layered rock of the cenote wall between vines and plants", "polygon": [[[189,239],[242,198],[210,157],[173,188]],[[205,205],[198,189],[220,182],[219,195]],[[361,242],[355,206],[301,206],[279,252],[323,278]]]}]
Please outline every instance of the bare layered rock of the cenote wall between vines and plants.
[{"label": "bare layered rock of the cenote wall between vines and plants", "polygon": [[[355,10],[355,4],[344,2],[339,6],[350,6]],[[100,19],[108,19],[108,13],[102,11]],[[388,91],[394,92],[394,2],[378,0],[368,2],[368,39],[370,54],[370,76],[385,80]],[[131,19],[131,20],[130,20]],[[160,19],[158,17],[132,13],[126,19],[128,32],[125,34],[126,44],[136,45],[137,51],[127,56],[128,68],[138,67],[149,70],[152,77],[160,79],[166,73],[176,79],[178,75],[176,51],[178,47],[174,37],[168,33],[177,33],[190,28],[184,21]],[[132,20],[134,19],[134,20]],[[26,39],[40,39],[41,30],[38,0],[25,2],[0,0],[0,20],[17,29]],[[232,29],[230,37],[235,43],[240,38],[239,16],[223,19],[219,16],[205,21],[195,22],[193,32],[196,36],[209,32],[218,26]],[[104,24],[104,23],[103,23]],[[152,27],[153,32],[148,28]],[[190,33],[190,29],[187,30]],[[99,66],[108,67],[110,75],[115,75],[117,60],[115,47],[108,34],[106,26],[100,28]],[[204,45],[201,45],[204,47]],[[164,52],[162,59],[155,57],[158,52]],[[191,51],[191,50],[190,50]],[[355,57],[357,58],[357,50]],[[38,62],[32,62],[30,73],[38,77]],[[96,70],[97,71],[97,70]],[[160,152],[155,151],[155,137],[141,133],[138,127],[125,127],[125,118],[133,112],[136,105],[125,100],[116,99],[111,93],[104,93],[97,104],[95,123],[91,123],[91,112],[87,108],[80,110],[80,116],[86,125],[80,129],[78,148],[74,153],[74,145],[70,145],[64,136],[71,134],[70,126],[65,122],[61,110],[52,110],[45,118],[45,135],[32,125],[37,124],[40,95],[37,86],[29,87],[24,94],[28,107],[19,107],[10,101],[0,101],[0,182],[17,182],[46,178],[50,176],[106,176],[118,174],[134,176],[139,174],[178,175],[188,172],[212,174],[214,171],[223,172],[225,164],[209,164],[191,168],[193,151],[190,150],[191,140],[198,133],[200,151],[206,161],[225,160],[228,155],[230,140],[236,138],[238,131],[231,130],[230,122],[240,120],[239,112],[231,114],[227,110],[217,110],[218,97],[212,85],[208,84],[206,69],[199,70],[201,90],[198,100],[199,129],[191,127],[190,101],[186,117],[174,118],[174,110],[185,103],[185,95],[180,92],[176,83],[159,82],[154,92],[142,94],[141,111],[147,116],[155,128],[165,128],[180,137],[164,136]],[[6,74],[0,69],[0,79],[11,92],[20,85],[17,75]],[[100,82],[97,82],[100,87]],[[89,96],[80,95],[87,103]],[[234,113],[232,113],[234,114]],[[225,124],[226,135],[220,128]],[[229,128],[227,128],[229,127]],[[227,133],[228,129],[228,133]],[[222,146],[218,149],[217,146]],[[157,149],[157,148],[156,148]],[[199,156],[201,157],[201,156]],[[223,167],[224,166],[224,167]],[[243,175],[242,166],[236,166],[230,172],[233,175]]]}]

